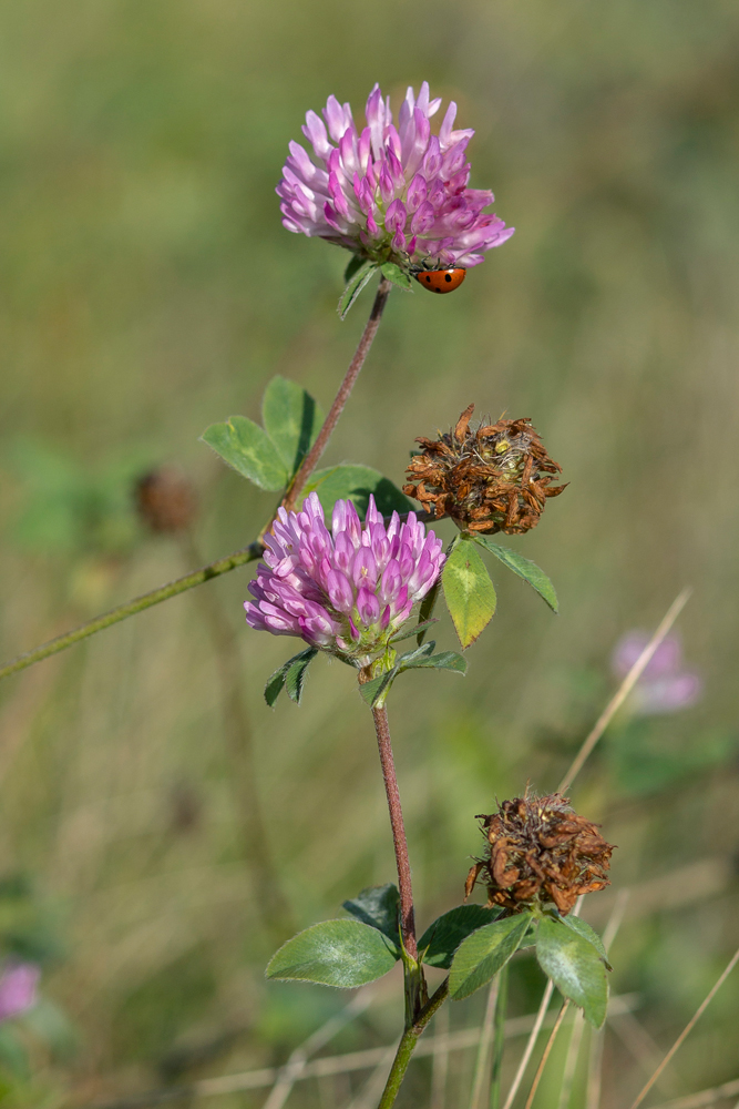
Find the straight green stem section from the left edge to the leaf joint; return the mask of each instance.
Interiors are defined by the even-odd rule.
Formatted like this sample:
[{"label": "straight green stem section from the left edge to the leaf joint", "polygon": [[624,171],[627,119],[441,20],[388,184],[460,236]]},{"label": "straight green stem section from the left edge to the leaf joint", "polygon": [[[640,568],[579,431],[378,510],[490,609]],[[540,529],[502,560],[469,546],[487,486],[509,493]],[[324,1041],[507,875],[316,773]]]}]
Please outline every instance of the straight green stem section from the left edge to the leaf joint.
[{"label": "straight green stem section from the left edge to the leaf joint", "polygon": [[158,604],[161,601],[168,601],[171,597],[184,593],[185,590],[193,589],[194,586],[202,586],[204,581],[209,581],[211,578],[217,578],[219,574],[228,573],[229,570],[235,570],[247,562],[254,562],[256,559],[261,558],[261,543],[249,543],[243,550],[234,551],[233,554],[226,554],[225,558],[219,558],[199,570],[193,570],[192,573],[185,574],[184,578],[177,578],[166,586],[153,589],[150,593],[143,593],[141,597],[135,597],[132,601],[119,604],[117,608],[111,609],[110,612],[104,612],[100,617],[95,617],[94,620],[89,620],[88,623],[81,624],[74,631],[68,631],[63,635],[50,639],[48,643],[42,643],[41,647],[35,647],[32,651],[27,651],[25,654],[19,654],[17,659],[12,659],[4,667],[0,667],[0,679],[8,678],[9,674],[14,674],[19,670],[25,670],[27,667],[33,665],[34,662],[41,662],[42,659],[48,659],[51,654],[58,654],[59,651],[64,651],[68,647],[73,647],[74,643],[88,639],[89,635],[94,635],[97,631],[110,628],[120,620],[125,620],[137,612],[151,609],[153,604]]}]

